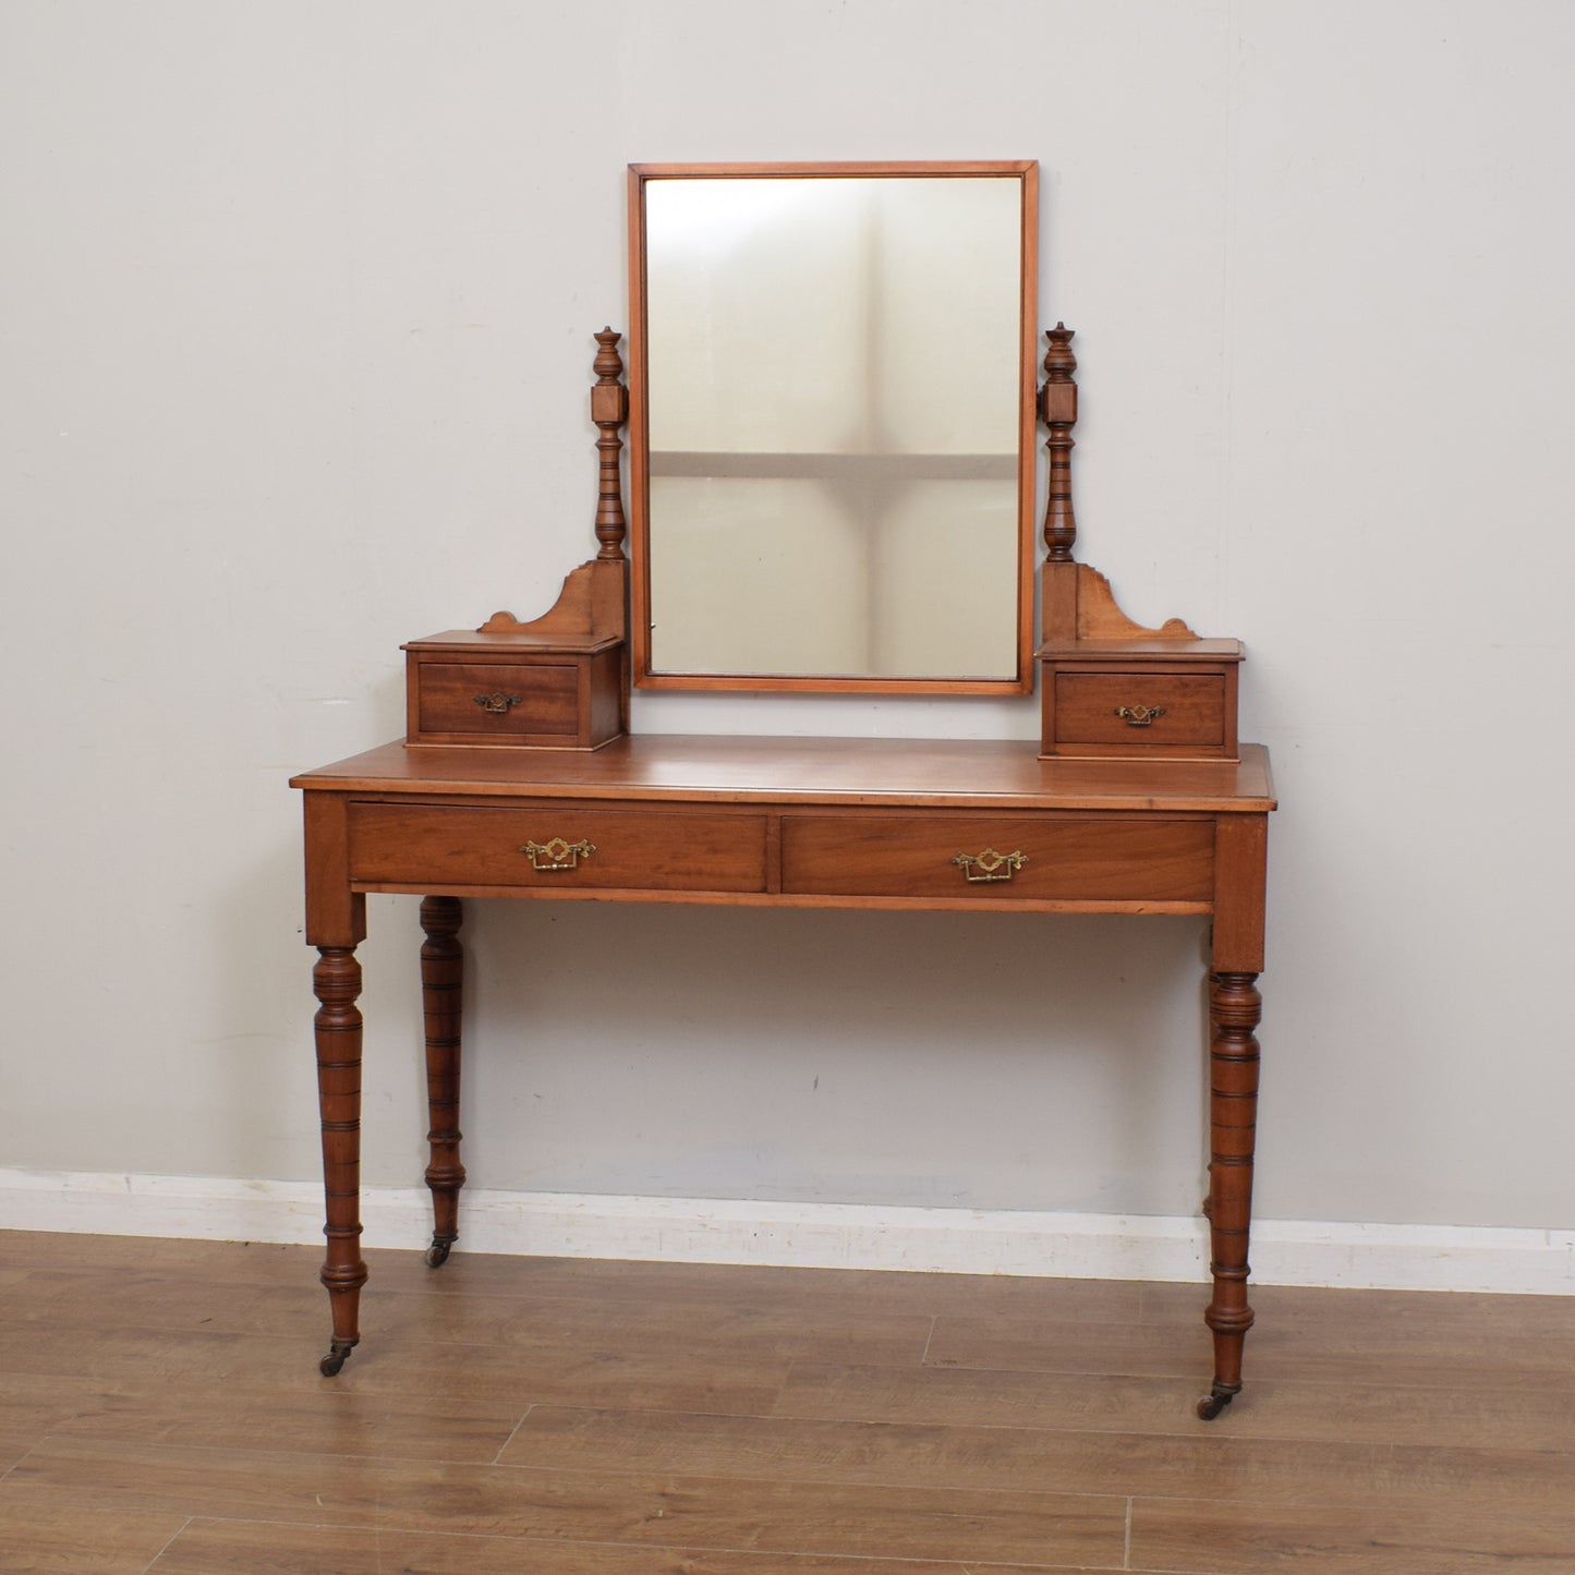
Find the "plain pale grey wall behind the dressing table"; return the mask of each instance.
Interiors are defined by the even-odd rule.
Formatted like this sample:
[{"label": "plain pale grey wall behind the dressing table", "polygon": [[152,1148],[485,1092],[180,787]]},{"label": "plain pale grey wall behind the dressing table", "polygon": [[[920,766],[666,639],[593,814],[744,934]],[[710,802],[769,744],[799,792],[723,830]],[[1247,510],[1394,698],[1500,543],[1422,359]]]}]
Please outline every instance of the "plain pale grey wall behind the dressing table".
[{"label": "plain pale grey wall behind the dressing table", "polygon": [[[1551,0],[11,0],[0,1164],[317,1173],[285,778],[589,556],[627,162],[1036,158],[1080,556],[1247,641],[1276,753],[1260,1213],[1569,1225],[1572,66]],[[413,1184],[414,902],[370,907],[365,1175]],[[484,1186],[1200,1194],[1195,921],[471,928]]]}]

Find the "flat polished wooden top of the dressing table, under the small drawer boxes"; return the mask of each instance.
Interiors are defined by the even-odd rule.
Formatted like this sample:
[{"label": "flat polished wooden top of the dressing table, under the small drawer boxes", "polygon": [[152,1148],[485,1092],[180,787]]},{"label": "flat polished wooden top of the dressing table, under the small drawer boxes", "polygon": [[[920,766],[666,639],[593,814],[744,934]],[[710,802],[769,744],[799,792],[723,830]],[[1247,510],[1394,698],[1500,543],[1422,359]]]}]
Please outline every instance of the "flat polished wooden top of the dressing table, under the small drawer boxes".
[{"label": "flat polished wooden top of the dressing table, under the small drawer boxes", "polygon": [[351,794],[1024,810],[1273,810],[1268,751],[1240,761],[1040,759],[1030,740],[625,734],[600,750],[384,743],[291,778]]}]

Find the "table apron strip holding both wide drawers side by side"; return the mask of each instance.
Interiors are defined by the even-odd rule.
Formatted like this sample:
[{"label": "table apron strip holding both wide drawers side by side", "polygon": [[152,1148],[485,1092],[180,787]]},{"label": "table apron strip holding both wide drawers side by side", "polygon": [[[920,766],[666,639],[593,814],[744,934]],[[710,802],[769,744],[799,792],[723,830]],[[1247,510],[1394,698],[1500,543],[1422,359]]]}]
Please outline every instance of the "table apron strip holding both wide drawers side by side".
[{"label": "table apron strip holding both wide drawers side by side", "polygon": [[1202,914],[1214,906],[1217,819],[353,799],[343,858],[354,891]]}]

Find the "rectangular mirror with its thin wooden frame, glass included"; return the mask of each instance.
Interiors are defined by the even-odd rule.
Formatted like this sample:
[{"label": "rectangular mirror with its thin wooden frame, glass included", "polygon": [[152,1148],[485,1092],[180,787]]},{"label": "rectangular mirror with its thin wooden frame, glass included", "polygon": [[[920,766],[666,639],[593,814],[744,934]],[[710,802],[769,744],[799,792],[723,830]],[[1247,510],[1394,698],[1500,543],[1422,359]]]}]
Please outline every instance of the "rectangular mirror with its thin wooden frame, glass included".
[{"label": "rectangular mirror with its thin wooden frame, glass included", "polygon": [[630,165],[635,682],[1032,688],[1038,165]]}]

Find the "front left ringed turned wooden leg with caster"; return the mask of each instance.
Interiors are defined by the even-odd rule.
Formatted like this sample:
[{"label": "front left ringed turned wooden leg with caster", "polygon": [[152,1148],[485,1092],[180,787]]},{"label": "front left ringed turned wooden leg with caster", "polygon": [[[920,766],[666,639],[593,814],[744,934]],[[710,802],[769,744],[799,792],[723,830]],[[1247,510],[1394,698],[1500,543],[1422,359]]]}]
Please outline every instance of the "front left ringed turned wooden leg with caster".
[{"label": "front left ringed turned wooden leg with caster", "polygon": [[361,1339],[361,1287],[367,1265],[361,1257],[361,964],[354,947],[318,947],[312,988],[320,1002],[317,1033],[317,1095],[323,1120],[323,1194],[328,1222],[328,1287],[334,1334],[320,1362],[332,1378]]}]

